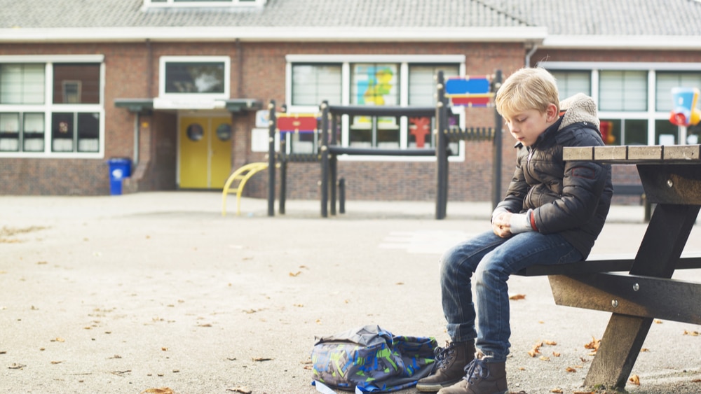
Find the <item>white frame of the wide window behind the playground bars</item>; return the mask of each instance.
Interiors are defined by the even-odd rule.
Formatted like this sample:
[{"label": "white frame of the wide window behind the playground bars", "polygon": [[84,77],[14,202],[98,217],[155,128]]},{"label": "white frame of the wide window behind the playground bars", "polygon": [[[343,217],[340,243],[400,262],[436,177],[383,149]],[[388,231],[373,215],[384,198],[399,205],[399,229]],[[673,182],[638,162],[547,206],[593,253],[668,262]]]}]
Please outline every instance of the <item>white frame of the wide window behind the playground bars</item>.
[{"label": "white frame of the wide window behind the playground bars", "polygon": [[[465,75],[465,55],[287,55],[285,57],[285,102],[292,103],[292,64],[304,63],[336,63],[341,64],[341,105],[351,105],[351,65],[355,63],[397,63],[400,65],[400,105],[409,103],[409,64],[459,64],[460,75]],[[321,104],[321,103],[320,103]],[[465,127],[465,116],[458,107],[460,113],[459,125]],[[318,106],[287,105],[288,113],[318,113]],[[407,149],[407,130],[409,127],[407,117],[400,118],[400,148]],[[341,146],[348,146],[350,135],[350,120],[348,115],[341,116]],[[460,144],[460,154],[450,156],[451,162],[465,161],[465,141]],[[341,161],[358,162],[435,162],[435,156],[374,156],[374,155],[339,155]]]}]

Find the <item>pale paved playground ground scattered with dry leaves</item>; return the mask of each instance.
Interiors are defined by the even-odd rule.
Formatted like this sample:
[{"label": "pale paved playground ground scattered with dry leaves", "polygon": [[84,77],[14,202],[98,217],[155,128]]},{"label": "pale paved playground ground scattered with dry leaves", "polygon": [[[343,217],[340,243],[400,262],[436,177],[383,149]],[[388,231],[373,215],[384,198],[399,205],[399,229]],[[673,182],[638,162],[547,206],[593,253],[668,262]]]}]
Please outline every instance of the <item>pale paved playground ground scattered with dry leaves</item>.
[{"label": "pale paved playground ground scattered with dry leaves", "polygon": [[[438,258],[489,230],[489,203],[318,201],[219,192],[0,196],[0,393],[315,393],[315,337],[376,324],[447,335]],[[641,206],[613,206],[594,254],[637,251]],[[697,222],[698,223],[698,222]],[[701,253],[701,225],[685,253]],[[701,270],[676,272],[701,282]],[[510,279],[512,393],[589,393],[587,349],[609,315]],[[701,327],[655,321],[629,393],[701,393]],[[542,346],[538,347],[539,344]],[[529,351],[538,347],[540,354]],[[571,372],[569,372],[571,371]],[[558,391],[559,390],[559,391]],[[410,388],[400,394],[414,394]]]}]

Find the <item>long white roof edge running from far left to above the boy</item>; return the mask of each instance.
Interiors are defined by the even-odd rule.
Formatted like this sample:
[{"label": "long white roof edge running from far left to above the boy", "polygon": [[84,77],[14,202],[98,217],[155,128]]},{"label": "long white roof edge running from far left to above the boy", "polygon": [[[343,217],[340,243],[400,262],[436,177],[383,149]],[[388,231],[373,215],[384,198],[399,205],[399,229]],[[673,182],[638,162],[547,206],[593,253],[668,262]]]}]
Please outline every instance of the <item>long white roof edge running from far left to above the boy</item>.
[{"label": "long white roof edge running from far left to above the boy", "polygon": [[95,41],[477,41],[531,42],[545,27],[88,27],[0,29],[0,42]]}]

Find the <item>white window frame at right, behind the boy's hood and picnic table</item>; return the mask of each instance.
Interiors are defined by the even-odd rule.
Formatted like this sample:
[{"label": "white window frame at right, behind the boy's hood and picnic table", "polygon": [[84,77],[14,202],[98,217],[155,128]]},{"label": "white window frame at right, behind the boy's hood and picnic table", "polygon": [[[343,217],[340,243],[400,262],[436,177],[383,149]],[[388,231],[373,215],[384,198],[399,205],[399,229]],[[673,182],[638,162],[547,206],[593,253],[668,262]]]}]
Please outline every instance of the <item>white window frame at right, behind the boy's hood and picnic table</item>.
[{"label": "white window frame at right, behind the boy's hood and picnic table", "polygon": [[[592,72],[592,99],[599,105],[599,70],[606,71],[648,71],[648,109],[647,111],[599,111],[601,119],[647,120],[648,145],[656,145],[655,120],[669,119],[669,111],[656,111],[658,71],[692,71],[700,72],[701,63],[667,63],[667,62],[538,62],[548,70]],[[701,88],[701,87],[700,87]],[[683,142],[682,142],[683,143]]]}]

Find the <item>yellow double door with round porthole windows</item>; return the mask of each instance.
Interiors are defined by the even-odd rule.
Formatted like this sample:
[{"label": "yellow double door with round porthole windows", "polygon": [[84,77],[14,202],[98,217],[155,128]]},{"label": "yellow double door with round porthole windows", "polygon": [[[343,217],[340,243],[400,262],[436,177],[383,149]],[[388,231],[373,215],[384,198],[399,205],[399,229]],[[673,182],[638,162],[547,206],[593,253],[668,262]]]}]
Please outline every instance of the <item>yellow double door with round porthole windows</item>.
[{"label": "yellow double door with round porthole windows", "polygon": [[231,174],[231,118],[182,117],[179,134],[180,188],[224,188]]}]

